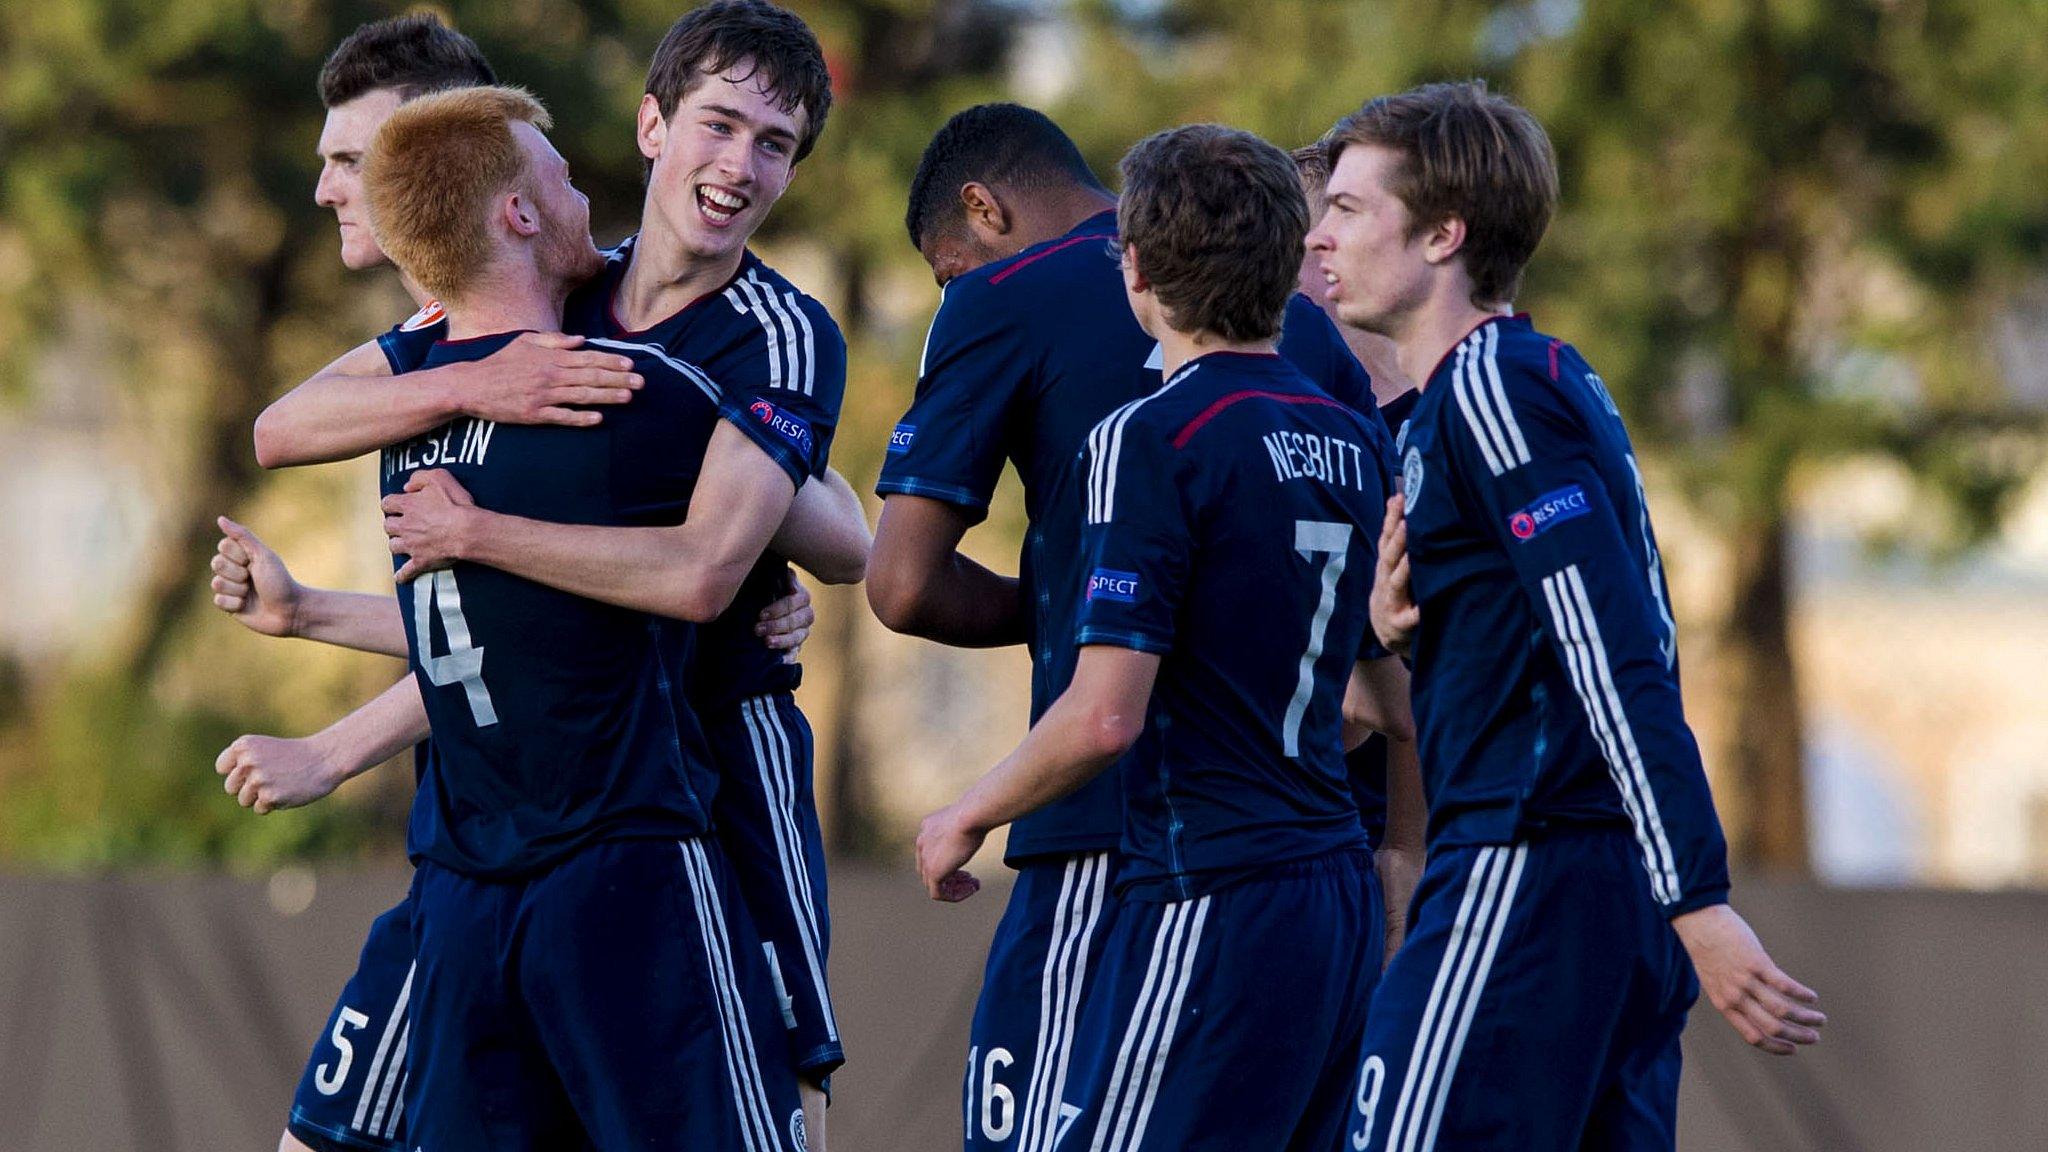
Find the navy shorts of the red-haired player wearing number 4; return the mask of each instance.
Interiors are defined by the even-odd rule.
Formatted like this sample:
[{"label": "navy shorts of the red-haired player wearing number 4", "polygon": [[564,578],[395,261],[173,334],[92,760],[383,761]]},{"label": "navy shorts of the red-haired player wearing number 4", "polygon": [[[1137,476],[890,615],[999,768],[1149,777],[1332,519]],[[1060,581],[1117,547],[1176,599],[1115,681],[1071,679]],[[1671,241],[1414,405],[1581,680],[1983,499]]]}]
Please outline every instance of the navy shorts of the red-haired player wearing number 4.
[{"label": "navy shorts of the red-haired player wearing number 4", "polygon": [[756,939],[707,838],[600,842],[524,881],[420,863],[408,1142],[803,1152]]}]

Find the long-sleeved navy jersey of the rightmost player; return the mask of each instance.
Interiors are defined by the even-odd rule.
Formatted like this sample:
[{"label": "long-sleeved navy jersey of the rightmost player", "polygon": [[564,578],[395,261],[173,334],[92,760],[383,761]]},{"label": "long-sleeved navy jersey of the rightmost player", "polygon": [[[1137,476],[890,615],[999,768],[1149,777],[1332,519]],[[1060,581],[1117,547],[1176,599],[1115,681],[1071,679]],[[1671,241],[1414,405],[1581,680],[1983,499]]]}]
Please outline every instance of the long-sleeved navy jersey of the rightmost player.
[{"label": "long-sleeved navy jersey of the rightmost player", "polygon": [[1401,451],[1432,851],[1632,826],[1669,914],[1722,900],[1663,562],[1599,375],[1489,320],[1430,375]]}]

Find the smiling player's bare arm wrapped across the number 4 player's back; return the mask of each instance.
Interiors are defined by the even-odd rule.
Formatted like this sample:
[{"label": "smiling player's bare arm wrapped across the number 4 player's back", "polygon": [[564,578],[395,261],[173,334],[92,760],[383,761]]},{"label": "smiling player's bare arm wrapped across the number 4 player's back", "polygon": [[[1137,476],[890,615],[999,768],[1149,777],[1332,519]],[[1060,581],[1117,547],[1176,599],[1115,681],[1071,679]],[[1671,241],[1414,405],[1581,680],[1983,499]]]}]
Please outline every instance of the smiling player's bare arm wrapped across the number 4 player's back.
[{"label": "smiling player's bare arm wrapped across the number 4 player's back", "polygon": [[487,512],[434,469],[385,498],[385,533],[391,551],[408,558],[401,582],[467,560],[606,605],[707,623],[733,603],[795,496],[793,469],[741,422],[721,420],[680,525],[553,525]]}]

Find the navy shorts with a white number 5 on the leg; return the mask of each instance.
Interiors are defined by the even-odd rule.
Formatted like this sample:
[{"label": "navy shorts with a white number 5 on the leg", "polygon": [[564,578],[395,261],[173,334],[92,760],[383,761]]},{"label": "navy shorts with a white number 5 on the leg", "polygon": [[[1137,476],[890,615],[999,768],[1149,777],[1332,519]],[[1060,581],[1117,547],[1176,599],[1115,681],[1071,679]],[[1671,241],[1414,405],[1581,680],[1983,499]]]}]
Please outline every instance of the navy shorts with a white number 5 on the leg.
[{"label": "navy shorts with a white number 5 on the leg", "polygon": [[371,922],[356,974],[299,1074],[285,1129],[319,1152],[406,1144],[406,1045],[412,998],[412,894]]}]

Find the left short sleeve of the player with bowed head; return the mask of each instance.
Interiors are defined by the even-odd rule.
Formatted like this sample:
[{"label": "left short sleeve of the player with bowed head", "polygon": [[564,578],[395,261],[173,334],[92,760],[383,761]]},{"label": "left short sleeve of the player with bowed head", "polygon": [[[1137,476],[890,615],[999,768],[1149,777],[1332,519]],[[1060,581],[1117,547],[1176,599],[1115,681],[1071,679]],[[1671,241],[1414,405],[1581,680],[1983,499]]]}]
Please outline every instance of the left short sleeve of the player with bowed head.
[{"label": "left short sleeve of the player with bowed head", "polygon": [[1032,371],[1016,318],[989,307],[987,285],[954,283],[938,301],[918,394],[889,435],[881,496],[928,496],[987,515],[1008,459],[1016,398]]}]

